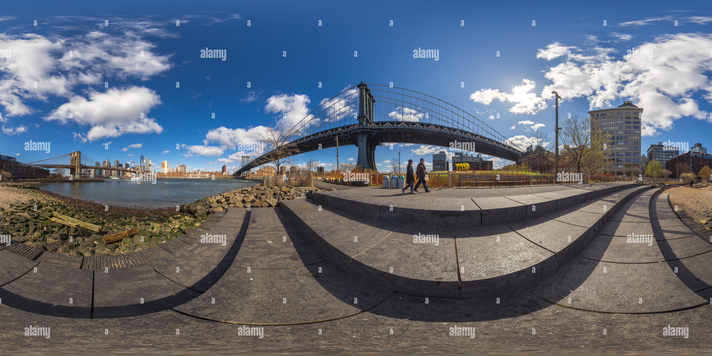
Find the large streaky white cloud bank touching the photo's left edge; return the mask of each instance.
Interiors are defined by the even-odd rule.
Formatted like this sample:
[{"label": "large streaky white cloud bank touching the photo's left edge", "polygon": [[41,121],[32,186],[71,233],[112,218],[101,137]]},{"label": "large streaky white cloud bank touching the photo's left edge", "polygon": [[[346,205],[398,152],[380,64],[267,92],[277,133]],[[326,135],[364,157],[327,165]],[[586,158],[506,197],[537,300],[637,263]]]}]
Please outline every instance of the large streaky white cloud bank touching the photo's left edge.
[{"label": "large streaky white cloud bank touching the photo's left edge", "polygon": [[[152,53],[154,47],[136,33],[91,31],[66,38],[0,34],[0,48],[12,53],[11,61],[0,61],[0,72],[6,73],[0,79],[0,105],[8,116],[28,115],[35,112],[28,100],[73,98],[78,85],[148,80],[172,66],[169,56]],[[141,52],[143,56],[137,54]]]}]

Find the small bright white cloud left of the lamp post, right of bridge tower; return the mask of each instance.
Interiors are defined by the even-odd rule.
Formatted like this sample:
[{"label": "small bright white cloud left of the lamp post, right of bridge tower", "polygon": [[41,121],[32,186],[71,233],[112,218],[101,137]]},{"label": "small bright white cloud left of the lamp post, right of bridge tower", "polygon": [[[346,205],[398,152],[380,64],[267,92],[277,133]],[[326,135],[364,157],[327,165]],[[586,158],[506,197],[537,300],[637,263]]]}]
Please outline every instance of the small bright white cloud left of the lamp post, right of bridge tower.
[{"label": "small bright white cloud left of the lamp post, right of bridge tower", "polygon": [[500,93],[499,89],[482,89],[470,95],[470,100],[475,103],[489,105],[492,100],[509,101],[516,103],[510,112],[514,114],[535,114],[539,110],[547,107],[546,102],[539,98],[535,93],[528,93],[529,90],[535,88],[533,80],[523,79],[523,84],[512,88],[512,93]]}]

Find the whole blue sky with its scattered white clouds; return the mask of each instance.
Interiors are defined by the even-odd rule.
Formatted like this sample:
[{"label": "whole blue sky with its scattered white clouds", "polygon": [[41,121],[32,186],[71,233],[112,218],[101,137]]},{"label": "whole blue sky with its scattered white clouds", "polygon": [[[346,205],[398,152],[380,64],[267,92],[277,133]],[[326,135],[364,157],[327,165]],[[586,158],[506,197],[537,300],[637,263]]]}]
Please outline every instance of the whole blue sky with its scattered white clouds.
[{"label": "whole blue sky with its scattered white clouds", "polygon": [[[243,153],[257,155],[236,142],[298,122],[361,80],[445,100],[522,147],[535,128],[553,137],[551,90],[563,115],[632,100],[644,108],[644,150],[712,146],[712,12],[701,1],[32,4],[4,4],[0,16],[0,50],[11,50],[0,59],[0,154],[21,162],[80,150],[233,170]],[[204,48],[226,50],[226,60],[200,58]],[[438,49],[439,61],[413,58],[414,48]],[[644,58],[626,56],[633,49]],[[25,151],[29,140],[51,142],[51,152]],[[438,150],[379,147],[376,159],[430,162]],[[340,157],[355,158],[356,147]]]}]

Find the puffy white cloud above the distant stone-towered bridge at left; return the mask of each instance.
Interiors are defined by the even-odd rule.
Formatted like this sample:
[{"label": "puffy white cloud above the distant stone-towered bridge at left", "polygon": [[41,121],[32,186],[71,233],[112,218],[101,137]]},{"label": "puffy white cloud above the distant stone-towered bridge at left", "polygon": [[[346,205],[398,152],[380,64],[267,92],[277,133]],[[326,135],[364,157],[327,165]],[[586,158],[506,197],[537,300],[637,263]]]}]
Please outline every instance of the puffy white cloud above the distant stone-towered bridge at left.
[{"label": "puffy white cloud above the distant stone-towered bridge at left", "polygon": [[105,93],[91,90],[89,100],[76,95],[69,103],[50,112],[44,120],[56,120],[62,124],[74,121],[79,125],[90,125],[91,128],[86,134],[90,141],[103,137],[119,137],[127,133],[159,134],[163,127],[147,115],[160,103],[159,95],[145,87],[114,88]]}]

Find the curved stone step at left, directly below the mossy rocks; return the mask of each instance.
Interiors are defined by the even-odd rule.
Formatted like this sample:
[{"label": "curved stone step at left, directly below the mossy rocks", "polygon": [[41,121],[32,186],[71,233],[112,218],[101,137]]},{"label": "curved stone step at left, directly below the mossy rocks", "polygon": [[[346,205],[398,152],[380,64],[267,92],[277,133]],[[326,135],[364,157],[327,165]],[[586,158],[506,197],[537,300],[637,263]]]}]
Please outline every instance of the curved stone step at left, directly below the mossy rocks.
[{"label": "curved stone step at left, directly below the mossy rocks", "polygon": [[[234,261],[250,214],[231,208],[226,215],[190,239],[179,237],[185,247],[174,253],[159,248],[162,253],[151,256],[83,258],[82,268],[53,254],[32,261],[1,249],[0,298],[11,308],[63,318],[124,318],[173,308],[208,290]],[[216,235],[223,243],[206,240]]]}]

